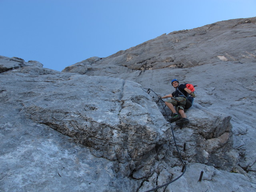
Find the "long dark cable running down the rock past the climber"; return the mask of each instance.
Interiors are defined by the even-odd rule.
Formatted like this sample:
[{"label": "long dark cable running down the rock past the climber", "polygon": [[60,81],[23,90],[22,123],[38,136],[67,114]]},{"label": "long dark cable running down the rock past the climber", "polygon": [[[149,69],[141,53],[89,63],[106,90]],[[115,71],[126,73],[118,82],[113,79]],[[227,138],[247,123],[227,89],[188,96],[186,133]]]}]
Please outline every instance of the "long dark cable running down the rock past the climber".
[{"label": "long dark cable running down the rock past the climber", "polygon": [[[146,89],[146,88],[144,88],[144,89]],[[150,89],[150,88],[148,88],[147,90],[148,90],[148,91],[147,91],[148,94],[150,93],[150,90],[151,90],[152,92],[154,92],[154,91],[153,91],[152,89]],[[156,93],[154,92],[154,94],[156,94]],[[156,96],[158,96],[158,95],[156,94]],[[163,108],[164,108],[164,112],[166,113],[166,116],[167,116],[167,112],[166,112],[166,110],[165,110],[165,106],[163,105],[164,101],[163,101],[160,97],[158,97],[157,103],[158,103],[159,101],[161,101],[161,104],[162,104],[162,106],[163,106]],[[178,155],[179,155],[179,157],[180,157],[180,161],[181,161],[181,163],[182,163],[182,165],[183,165],[183,167],[182,167],[182,174],[181,174],[180,176],[178,176],[177,178],[175,178],[174,180],[172,180],[172,181],[170,181],[170,182],[168,182],[168,183],[166,183],[166,184],[163,184],[163,185],[161,185],[161,186],[158,186],[158,187],[156,187],[156,188],[154,188],[154,189],[151,189],[151,190],[148,190],[148,191],[145,191],[145,192],[154,191],[154,190],[157,190],[157,189],[162,188],[162,187],[164,187],[164,186],[167,186],[167,185],[171,184],[172,182],[174,182],[174,181],[178,180],[179,178],[181,178],[181,177],[184,175],[184,173],[186,172],[186,163],[184,163],[184,161],[182,160],[182,157],[181,157],[180,152],[179,152],[179,150],[178,150],[178,146],[177,146],[177,144],[176,144],[176,140],[175,140],[175,136],[174,136],[172,124],[170,124],[170,125],[171,125],[171,130],[172,130],[172,136],[173,136],[174,144],[175,144],[175,146],[176,146],[176,150],[177,150]]]}]

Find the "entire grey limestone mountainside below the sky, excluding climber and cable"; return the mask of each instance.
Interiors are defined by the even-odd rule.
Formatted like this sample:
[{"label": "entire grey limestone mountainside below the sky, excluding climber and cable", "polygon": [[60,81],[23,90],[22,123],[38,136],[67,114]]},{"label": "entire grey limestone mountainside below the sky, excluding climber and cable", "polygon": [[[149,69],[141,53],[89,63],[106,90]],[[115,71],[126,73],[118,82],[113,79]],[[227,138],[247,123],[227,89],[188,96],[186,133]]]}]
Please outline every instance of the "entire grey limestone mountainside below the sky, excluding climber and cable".
[{"label": "entire grey limestone mountainside below the sky, excluding climber and cable", "polygon": [[[158,191],[255,191],[255,24],[172,32],[63,72],[1,56],[0,191],[144,192],[182,174],[180,157],[185,174]],[[198,86],[182,128],[157,102],[173,78]]]}]

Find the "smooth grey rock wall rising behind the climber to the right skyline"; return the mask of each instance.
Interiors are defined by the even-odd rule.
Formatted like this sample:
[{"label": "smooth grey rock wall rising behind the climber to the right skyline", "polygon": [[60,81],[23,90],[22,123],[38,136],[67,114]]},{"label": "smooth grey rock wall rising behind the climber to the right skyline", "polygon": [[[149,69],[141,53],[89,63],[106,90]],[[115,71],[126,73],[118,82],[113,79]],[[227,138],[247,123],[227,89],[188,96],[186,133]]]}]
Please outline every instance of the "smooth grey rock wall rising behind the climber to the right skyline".
[{"label": "smooth grey rock wall rising behind the climber to the right skyline", "polygon": [[[174,91],[170,84],[173,78],[198,85],[196,103],[206,115],[201,116],[194,107],[189,111],[199,115],[197,122],[208,118],[207,112],[212,110],[232,117],[238,164],[254,175],[255,21],[256,17],[226,20],[164,34],[102,58],[83,74],[132,80],[162,96]],[[204,128],[205,123],[199,126]],[[223,132],[211,129],[213,132],[202,130],[200,134],[207,139]]]}]

